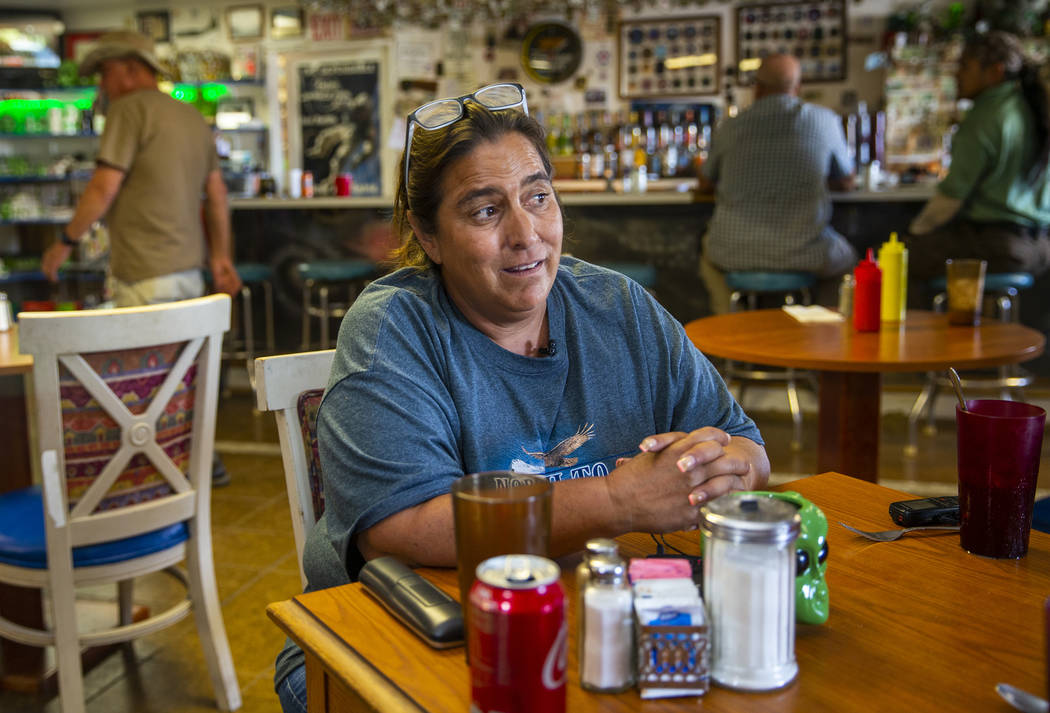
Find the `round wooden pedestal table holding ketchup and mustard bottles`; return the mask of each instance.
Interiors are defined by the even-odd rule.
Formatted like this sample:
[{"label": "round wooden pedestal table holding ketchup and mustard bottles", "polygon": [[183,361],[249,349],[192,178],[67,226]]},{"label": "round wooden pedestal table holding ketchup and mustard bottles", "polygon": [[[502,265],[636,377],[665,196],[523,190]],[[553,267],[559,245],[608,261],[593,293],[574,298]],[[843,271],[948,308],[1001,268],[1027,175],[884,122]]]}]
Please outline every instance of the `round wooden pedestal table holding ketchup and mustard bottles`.
[{"label": "round wooden pedestal table holding ketchup and mustard bottles", "polygon": [[876,482],[884,372],[976,369],[1043,353],[1046,337],[1022,324],[949,327],[948,316],[909,311],[899,327],[855,332],[848,321],[803,324],[783,310],[696,319],[686,334],[708,356],[820,373],[817,470]]}]

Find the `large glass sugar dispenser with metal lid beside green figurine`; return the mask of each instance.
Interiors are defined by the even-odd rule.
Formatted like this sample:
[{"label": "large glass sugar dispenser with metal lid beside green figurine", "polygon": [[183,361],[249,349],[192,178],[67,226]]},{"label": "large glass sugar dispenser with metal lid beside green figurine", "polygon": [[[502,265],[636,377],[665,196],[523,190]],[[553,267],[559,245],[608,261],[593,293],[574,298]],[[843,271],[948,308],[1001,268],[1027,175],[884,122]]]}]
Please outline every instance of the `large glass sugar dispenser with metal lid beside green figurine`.
[{"label": "large glass sugar dispenser with metal lid beside green figurine", "polygon": [[711,677],[768,691],[791,683],[795,660],[795,539],[791,503],[733,492],[700,509]]}]

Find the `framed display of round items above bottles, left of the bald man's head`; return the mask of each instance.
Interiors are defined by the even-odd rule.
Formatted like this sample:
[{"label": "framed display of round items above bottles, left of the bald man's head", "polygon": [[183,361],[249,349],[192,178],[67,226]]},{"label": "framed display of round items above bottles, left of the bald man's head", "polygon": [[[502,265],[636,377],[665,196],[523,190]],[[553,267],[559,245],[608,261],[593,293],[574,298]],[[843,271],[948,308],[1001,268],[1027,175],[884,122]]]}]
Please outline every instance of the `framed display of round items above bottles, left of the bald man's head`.
[{"label": "framed display of round items above bottles, left of the bald man's head", "polygon": [[717,95],[721,87],[721,18],[653,18],[620,23],[620,96]]}]

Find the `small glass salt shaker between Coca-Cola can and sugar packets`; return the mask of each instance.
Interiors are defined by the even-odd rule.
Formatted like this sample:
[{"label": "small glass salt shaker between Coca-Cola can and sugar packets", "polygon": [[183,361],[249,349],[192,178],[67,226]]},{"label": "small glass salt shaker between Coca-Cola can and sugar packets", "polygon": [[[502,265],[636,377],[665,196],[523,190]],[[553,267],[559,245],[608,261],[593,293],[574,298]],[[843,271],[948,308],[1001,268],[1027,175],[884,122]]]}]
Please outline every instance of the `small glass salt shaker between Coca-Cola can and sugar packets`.
[{"label": "small glass salt shaker between Coca-Cola can and sugar packets", "polygon": [[627,563],[612,540],[590,540],[587,550],[576,569],[580,685],[588,691],[618,693],[633,686],[635,677]]}]

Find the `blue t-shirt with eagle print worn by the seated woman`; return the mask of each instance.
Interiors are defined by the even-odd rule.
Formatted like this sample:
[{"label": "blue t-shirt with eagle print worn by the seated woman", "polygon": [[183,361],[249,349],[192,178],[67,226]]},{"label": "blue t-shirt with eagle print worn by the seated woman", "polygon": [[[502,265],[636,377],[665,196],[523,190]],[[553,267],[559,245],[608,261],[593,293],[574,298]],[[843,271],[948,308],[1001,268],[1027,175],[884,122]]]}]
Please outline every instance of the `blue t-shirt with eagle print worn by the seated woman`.
[{"label": "blue t-shirt with eagle print worn by the seated woman", "polygon": [[[361,293],[318,412],[326,509],[303,551],[310,589],[356,578],[357,532],[464,474],[605,476],[646,436],[707,425],[762,442],[681,324],[636,282],[563,257],[547,313],[554,355],[533,358],[470,324],[434,270],[399,270]],[[289,643],[275,683],[299,663]]]}]

